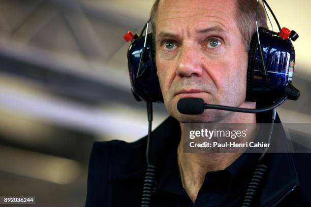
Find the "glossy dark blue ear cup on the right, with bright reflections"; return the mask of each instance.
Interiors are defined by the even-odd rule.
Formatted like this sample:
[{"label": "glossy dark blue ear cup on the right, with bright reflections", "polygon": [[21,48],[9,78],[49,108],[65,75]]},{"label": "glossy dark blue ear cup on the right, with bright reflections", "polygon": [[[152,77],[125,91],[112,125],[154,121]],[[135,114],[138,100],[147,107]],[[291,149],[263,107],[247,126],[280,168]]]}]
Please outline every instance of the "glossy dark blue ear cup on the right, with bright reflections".
[{"label": "glossy dark blue ear cup on the right, with bright reflections", "polygon": [[[263,61],[259,51],[257,31],[253,34],[248,51],[246,101],[275,101],[286,93],[292,82],[295,50],[289,39],[264,27],[258,28],[263,49]],[[267,75],[263,66],[266,66]]]}]

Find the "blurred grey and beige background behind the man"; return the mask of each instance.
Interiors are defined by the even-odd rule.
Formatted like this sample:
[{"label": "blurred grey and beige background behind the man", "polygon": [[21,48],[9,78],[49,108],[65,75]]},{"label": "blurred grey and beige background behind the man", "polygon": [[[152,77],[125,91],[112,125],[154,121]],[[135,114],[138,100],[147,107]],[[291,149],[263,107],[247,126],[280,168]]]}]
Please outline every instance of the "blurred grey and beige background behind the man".
[{"label": "blurred grey and beige background behind the man", "polygon": [[[293,83],[301,97],[278,113],[284,122],[310,123],[311,2],[268,3],[281,26],[300,36]],[[37,206],[84,206],[92,143],[132,142],[147,133],[122,36],[141,30],[152,4],[0,0],[0,195],[33,195]],[[167,116],[155,104],[153,128]]]}]

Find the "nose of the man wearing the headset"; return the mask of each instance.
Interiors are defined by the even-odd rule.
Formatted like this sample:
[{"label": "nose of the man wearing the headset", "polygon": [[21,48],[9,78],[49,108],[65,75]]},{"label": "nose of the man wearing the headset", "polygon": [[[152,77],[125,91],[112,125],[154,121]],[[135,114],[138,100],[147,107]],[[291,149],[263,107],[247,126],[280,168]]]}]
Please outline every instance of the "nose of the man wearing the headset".
[{"label": "nose of the man wearing the headset", "polygon": [[201,65],[199,51],[194,46],[183,46],[179,54],[176,74],[180,78],[193,75],[200,77],[203,72]]}]

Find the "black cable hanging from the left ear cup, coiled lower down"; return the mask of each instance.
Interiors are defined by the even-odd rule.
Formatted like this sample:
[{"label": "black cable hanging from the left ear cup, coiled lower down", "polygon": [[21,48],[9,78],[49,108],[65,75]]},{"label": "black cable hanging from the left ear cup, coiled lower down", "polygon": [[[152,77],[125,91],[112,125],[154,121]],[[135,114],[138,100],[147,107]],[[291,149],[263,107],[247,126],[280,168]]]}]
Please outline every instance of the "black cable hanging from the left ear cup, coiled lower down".
[{"label": "black cable hanging from the left ear cup, coiled lower down", "polygon": [[148,136],[147,136],[147,147],[146,147],[146,161],[147,169],[144,178],[143,192],[141,198],[141,207],[149,207],[151,204],[152,192],[155,185],[155,174],[157,167],[150,164],[149,160],[149,148],[150,148],[150,137],[152,127],[152,102],[147,102],[147,113],[148,113]]}]

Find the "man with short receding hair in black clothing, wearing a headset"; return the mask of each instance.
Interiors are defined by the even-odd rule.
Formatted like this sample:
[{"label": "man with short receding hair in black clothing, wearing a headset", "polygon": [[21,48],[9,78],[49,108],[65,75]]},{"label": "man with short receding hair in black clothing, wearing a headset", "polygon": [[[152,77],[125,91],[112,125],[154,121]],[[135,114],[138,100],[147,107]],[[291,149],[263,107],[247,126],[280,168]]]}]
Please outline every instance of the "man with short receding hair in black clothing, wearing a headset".
[{"label": "man with short receding hair in black clothing, wearing a headset", "polygon": [[[263,8],[258,12],[259,26],[267,27]],[[256,31],[255,13],[255,0],[154,3],[151,24],[157,70],[171,117],[151,134],[150,154],[158,167],[152,206],[242,205],[259,155],[183,153],[182,123],[270,122],[270,113],[256,116],[205,110],[201,115],[183,115],[176,105],[180,98],[200,97],[210,104],[256,108],[256,102],[245,101],[248,45]],[[135,143],[95,143],[86,206],[139,206],[145,149],[146,137]],[[300,175],[301,169],[309,173],[310,169],[304,168],[298,156],[269,157],[269,175],[254,206],[310,205],[305,183],[309,179]]]}]

